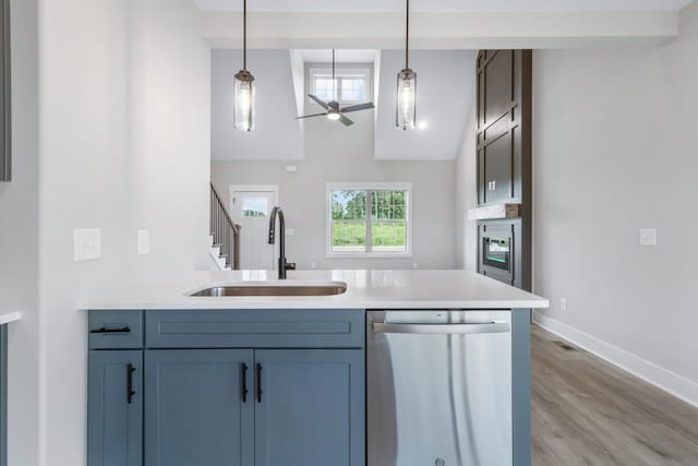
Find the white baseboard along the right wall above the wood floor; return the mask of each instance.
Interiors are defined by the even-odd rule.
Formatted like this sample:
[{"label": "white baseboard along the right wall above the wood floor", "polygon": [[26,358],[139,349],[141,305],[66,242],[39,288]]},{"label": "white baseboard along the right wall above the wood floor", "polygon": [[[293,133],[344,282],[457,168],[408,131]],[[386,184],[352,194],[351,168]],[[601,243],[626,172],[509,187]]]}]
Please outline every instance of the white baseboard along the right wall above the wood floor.
[{"label": "white baseboard along the right wall above the wood floor", "polygon": [[544,311],[533,312],[533,322],[541,327],[617,366],[624,371],[651,383],[658,389],[698,407],[698,383],[672,371],[667,371],[556,319],[543,315],[542,312]]}]

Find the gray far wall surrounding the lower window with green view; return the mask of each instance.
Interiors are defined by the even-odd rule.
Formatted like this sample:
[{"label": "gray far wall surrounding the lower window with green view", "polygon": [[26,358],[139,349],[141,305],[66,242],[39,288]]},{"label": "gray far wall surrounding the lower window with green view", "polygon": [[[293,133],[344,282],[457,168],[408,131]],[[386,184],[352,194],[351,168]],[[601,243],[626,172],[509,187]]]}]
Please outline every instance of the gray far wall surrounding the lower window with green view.
[{"label": "gray far wall surrounding the lower window with green view", "polygon": [[[453,268],[453,162],[376,162],[373,157],[373,112],[352,115],[354,126],[326,118],[305,122],[305,158],[284,162],[213,162],[212,179],[228,199],[230,184],[278,184],[279,204],[288,228],[289,261],[309,268]],[[298,166],[297,174],[286,166]],[[412,258],[327,259],[325,255],[325,183],[328,181],[411,181]]]}]

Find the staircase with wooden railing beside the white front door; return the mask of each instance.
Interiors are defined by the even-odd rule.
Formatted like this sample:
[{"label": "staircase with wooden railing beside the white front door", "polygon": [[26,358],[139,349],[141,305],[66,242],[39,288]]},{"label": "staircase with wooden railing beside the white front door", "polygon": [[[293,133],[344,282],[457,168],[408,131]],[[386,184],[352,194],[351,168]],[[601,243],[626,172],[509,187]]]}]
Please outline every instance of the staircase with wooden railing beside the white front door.
[{"label": "staircase with wooden railing beside the white front door", "polygon": [[210,270],[240,270],[240,225],[230,218],[220,195],[210,183]]}]

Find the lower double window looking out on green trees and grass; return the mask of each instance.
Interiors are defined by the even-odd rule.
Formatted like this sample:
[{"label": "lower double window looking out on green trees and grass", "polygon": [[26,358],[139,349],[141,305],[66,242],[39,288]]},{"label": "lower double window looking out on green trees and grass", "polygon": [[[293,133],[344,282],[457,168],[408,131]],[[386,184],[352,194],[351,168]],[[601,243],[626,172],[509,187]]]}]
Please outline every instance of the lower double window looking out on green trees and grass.
[{"label": "lower double window looking out on green trees and grass", "polygon": [[410,255],[410,183],[328,183],[328,255]]}]

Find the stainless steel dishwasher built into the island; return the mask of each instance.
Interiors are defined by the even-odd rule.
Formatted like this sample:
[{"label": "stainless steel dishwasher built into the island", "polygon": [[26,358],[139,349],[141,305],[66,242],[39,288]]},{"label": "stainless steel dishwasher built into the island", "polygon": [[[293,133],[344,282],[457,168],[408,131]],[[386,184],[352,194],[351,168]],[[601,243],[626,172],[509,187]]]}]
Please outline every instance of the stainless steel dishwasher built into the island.
[{"label": "stainless steel dishwasher built into the island", "polygon": [[370,311],[368,465],[512,465],[509,311]]}]

